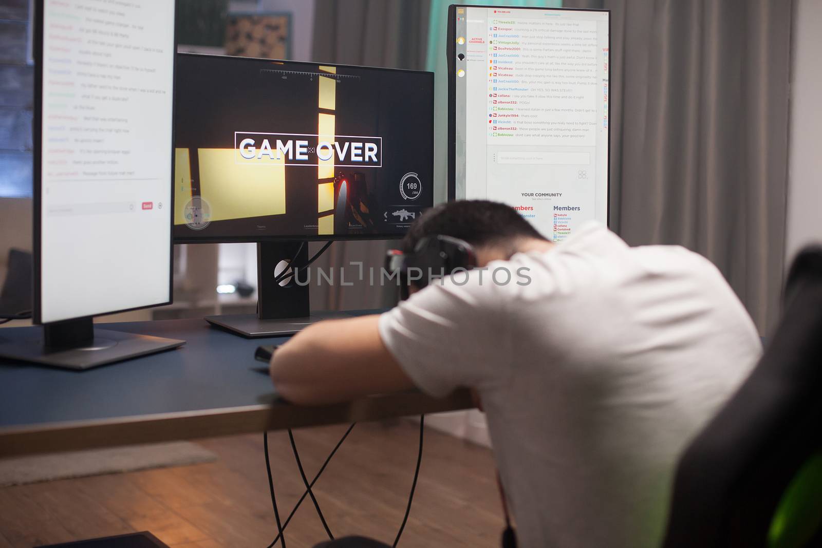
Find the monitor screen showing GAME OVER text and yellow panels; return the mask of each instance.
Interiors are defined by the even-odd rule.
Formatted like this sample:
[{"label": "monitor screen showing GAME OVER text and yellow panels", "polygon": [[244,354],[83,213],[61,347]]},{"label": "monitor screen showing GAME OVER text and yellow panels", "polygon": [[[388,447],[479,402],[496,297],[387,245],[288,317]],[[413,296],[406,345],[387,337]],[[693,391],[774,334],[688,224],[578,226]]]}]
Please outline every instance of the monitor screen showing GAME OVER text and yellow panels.
[{"label": "monitor screen showing GAME OVER text and yellow panels", "polygon": [[404,233],[433,200],[430,72],[178,56],[174,237]]}]

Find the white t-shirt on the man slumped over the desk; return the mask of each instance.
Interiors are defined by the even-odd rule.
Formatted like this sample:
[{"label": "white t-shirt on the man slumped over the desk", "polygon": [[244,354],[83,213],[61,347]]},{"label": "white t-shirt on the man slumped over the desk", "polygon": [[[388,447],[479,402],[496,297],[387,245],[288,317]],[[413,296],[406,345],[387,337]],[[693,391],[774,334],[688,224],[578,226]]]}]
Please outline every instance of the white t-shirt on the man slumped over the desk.
[{"label": "white t-shirt on the man slumped over the desk", "polygon": [[659,546],[678,458],[762,351],[708,260],[598,223],[433,283],[380,334],[428,394],[478,390],[522,548]]}]

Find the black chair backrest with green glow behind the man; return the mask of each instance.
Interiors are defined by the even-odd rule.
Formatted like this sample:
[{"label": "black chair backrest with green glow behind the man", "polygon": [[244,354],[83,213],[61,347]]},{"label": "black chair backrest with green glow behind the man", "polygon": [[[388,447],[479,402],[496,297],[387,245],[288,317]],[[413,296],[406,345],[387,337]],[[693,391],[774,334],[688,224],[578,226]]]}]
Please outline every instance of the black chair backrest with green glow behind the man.
[{"label": "black chair backrest with green glow behind the man", "polygon": [[792,265],[759,364],[681,457],[664,548],[822,546],[820,441],[822,247],[813,247]]}]

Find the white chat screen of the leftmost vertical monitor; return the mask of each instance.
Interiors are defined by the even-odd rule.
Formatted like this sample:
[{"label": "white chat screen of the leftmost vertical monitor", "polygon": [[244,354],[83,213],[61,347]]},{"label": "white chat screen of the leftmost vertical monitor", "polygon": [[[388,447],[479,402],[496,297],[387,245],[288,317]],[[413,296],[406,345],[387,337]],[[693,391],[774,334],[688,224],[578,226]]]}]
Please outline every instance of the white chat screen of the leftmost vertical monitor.
[{"label": "white chat screen of the leftmost vertical monitor", "polygon": [[45,0],[42,48],[39,320],[169,302],[174,2]]}]

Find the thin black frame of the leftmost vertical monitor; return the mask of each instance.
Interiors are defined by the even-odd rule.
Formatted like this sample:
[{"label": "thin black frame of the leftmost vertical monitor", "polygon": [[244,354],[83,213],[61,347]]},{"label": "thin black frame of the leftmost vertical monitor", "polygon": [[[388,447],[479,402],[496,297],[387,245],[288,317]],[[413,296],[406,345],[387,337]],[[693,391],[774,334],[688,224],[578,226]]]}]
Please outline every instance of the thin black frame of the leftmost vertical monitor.
[{"label": "thin black frame of the leftmost vertical monitor", "polygon": [[[35,93],[34,93],[34,108],[31,122],[32,133],[32,280],[31,280],[31,321],[33,324],[42,325],[43,322],[43,299],[42,299],[42,260],[41,253],[43,251],[41,230],[41,214],[43,211],[42,204],[42,167],[43,167],[43,21],[45,0],[35,0],[32,2],[31,9],[35,10],[34,16],[34,39],[32,41],[32,56],[35,60]],[[174,18],[177,16],[177,6],[174,6]],[[130,312],[143,310],[145,308],[155,308],[156,306],[166,306],[173,302],[173,283],[174,283],[174,230],[173,230],[173,214],[174,214],[174,113],[177,107],[177,94],[174,93],[174,85],[177,81],[177,25],[174,25],[172,48],[174,58],[172,60],[171,78],[172,78],[172,100],[171,100],[171,171],[169,173],[169,223],[171,229],[169,230],[169,298],[164,302],[156,302],[141,306],[132,306],[130,308],[122,308],[117,310],[106,310],[95,312],[94,314],[79,315],[72,318],[64,318],[62,320],[53,320],[45,322],[49,325],[60,324],[62,322],[69,322],[75,320],[84,320],[85,318],[93,318],[98,315],[119,314],[121,312]],[[104,252],[101,250],[101,252]]]}]

